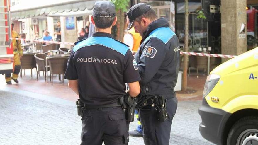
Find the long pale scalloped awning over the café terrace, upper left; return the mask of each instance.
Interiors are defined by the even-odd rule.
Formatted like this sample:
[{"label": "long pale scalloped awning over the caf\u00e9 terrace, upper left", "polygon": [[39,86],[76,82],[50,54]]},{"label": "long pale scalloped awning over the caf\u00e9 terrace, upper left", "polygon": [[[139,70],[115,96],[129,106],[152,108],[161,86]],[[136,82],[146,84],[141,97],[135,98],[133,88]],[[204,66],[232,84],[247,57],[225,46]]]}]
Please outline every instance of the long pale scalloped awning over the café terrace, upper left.
[{"label": "long pale scalloped awning over the caf\u00e9 terrace, upper left", "polygon": [[11,19],[36,16],[83,16],[91,13],[97,0],[26,0],[11,6]]}]

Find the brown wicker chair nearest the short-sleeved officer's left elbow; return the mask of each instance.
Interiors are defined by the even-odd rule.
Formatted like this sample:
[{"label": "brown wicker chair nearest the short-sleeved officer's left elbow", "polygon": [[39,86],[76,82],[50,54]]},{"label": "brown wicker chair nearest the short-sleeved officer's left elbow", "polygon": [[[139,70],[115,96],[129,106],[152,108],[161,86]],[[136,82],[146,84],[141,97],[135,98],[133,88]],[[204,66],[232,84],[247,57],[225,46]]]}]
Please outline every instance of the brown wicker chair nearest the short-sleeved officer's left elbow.
[{"label": "brown wicker chair nearest the short-sleeved officer's left elbow", "polygon": [[64,84],[64,74],[67,67],[68,57],[49,57],[47,62],[50,65],[50,75],[51,75],[51,82],[53,84],[53,74],[62,74],[62,81]]}]

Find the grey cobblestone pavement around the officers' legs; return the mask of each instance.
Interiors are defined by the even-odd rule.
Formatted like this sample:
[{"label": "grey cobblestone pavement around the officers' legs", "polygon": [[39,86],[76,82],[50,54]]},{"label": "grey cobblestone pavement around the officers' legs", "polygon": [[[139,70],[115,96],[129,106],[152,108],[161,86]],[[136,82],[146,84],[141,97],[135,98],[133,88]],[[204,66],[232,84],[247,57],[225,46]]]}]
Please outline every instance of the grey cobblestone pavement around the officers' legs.
[{"label": "grey cobblestone pavement around the officers' legs", "polygon": [[[0,90],[1,145],[80,144],[81,121],[76,106]],[[73,102],[70,102],[71,104]],[[198,125],[201,101],[181,101],[172,123],[171,145],[212,145],[201,137]],[[135,129],[136,121],[130,124]],[[129,145],[143,145],[141,137],[130,137]]]}]

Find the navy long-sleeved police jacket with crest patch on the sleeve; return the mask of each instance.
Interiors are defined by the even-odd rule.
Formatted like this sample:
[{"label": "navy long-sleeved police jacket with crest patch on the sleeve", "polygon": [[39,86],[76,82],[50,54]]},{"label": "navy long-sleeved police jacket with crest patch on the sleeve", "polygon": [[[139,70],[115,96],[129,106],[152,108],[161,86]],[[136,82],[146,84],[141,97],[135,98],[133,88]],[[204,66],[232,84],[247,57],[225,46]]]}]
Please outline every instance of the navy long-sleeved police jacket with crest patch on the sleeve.
[{"label": "navy long-sleeved police jacket with crest patch on the sleeve", "polygon": [[153,21],[144,33],[135,60],[141,76],[141,96],[175,97],[180,47],[176,34],[165,18]]}]

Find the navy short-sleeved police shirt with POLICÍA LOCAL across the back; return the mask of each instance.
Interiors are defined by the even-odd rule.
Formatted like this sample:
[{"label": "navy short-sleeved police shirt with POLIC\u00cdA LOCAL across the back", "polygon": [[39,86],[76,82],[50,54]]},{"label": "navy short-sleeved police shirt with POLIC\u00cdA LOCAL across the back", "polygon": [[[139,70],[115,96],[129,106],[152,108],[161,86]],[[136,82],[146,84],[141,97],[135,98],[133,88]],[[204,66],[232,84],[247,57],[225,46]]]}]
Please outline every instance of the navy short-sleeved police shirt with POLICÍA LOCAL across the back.
[{"label": "navy short-sleeved police shirt with POLIC\u00cdA LOCAL across the back", "polygon": [[79,97],[86,105],[118,102],[126,95],[125,83],[140,80],[135,59],[128,46],[109,33],[96,32],[75,43],[65,79],[79,82]]}]

